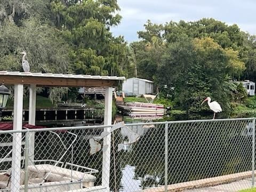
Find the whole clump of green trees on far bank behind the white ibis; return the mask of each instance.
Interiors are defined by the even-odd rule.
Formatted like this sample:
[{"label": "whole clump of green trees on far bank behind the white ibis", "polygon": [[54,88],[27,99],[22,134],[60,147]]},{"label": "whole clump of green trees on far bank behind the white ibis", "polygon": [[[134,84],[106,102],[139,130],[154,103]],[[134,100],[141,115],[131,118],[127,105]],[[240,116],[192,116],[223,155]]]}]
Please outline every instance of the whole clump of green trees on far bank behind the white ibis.
[{"label": "whole clump of green trees on far bank behind the white ibis", "polygon": [[246,39],[237,25],[214,19],[171,21],[164,26],[147,21],[138,35],[142,40],[132,43],[138,76],[153,79],[160,90],[167,85],[176,106],[188,112],[200,111],[205,97],[218,100],[229,111],[239,88],[230,79],[242,78],[249,63],[254,67],[249,56],[253,38]]}]

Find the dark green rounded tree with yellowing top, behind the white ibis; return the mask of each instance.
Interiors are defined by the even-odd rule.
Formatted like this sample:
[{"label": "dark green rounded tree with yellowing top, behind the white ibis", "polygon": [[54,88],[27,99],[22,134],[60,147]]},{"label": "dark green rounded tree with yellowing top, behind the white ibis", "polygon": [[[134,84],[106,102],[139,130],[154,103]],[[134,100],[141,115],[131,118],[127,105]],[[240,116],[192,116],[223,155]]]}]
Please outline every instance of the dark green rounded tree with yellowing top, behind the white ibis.
[{"label": "dark green rounded tree with yellowing top, behind the white ibis", "polygon": [[220,101],[227,111],[233,91],[231,85],[226,85],[230,71],[241,72],[244,67],[239,62],[243,67],[237,68],[235,59],[210,37],[180,38],[166,49],[158,78],[169,89],[174,87],[176,103],[187,111],[201,110],[200,103],[206,95]]}]

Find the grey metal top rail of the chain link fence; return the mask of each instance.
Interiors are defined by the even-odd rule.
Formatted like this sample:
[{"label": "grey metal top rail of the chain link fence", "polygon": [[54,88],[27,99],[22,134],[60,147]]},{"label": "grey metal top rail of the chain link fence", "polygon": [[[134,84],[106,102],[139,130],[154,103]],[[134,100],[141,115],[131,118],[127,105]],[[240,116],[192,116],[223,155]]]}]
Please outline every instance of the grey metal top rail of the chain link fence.
[{"label": "grey metal top rail of the chain link fence", "polygon": [[[179,124],[179,123],[201,123],[201,122],[227,122],[227,121],[250,121],[256,117],[251,118],[225,118],[225,119],[199,119],[199,120],[186,120],[186,121],[164,121],[164,122],[148,122],[148,123],[129,123],[125,126],[136,125],[159,125],[159,124]],[[91,125],[91,126],[69,126],[69,127],[53,127],[53,128],[41,128],[41,129],[23,129],[23,130],[7,130],[0,131],[0,134],[8,133],[26,133],[26,132],[43,132],[43,131],[65,131],[65,130],[86,130],[86,129],[103,129],[106,127],[112,127],[113,125]]]}]

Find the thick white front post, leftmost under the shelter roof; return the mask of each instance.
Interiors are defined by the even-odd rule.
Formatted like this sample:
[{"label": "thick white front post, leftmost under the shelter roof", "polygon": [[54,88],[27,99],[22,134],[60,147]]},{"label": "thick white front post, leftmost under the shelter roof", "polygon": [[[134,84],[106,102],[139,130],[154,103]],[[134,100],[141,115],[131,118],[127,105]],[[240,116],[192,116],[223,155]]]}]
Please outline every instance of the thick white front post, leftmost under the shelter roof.
[{"label": "thick white front post, leftmost under the shelter roof", "polygon": [[[22,130],[23,85],[14,85],[13,130]],[[20,191],[21,133],[13,133],[11,191]]]}]

